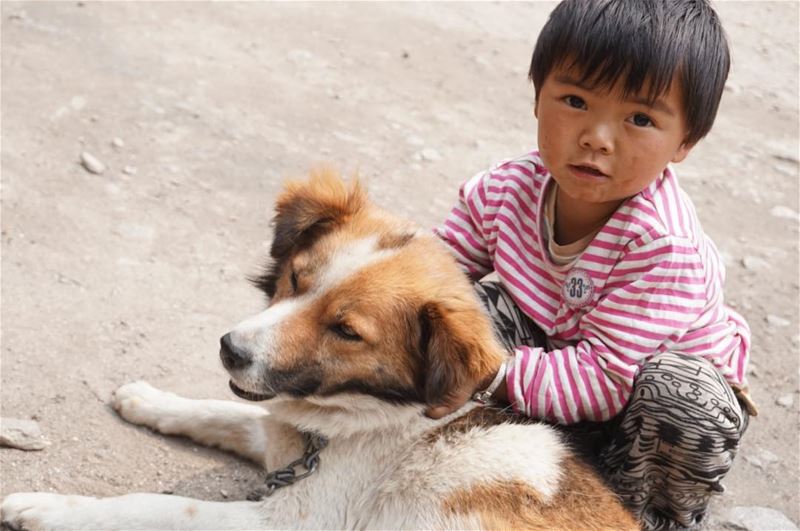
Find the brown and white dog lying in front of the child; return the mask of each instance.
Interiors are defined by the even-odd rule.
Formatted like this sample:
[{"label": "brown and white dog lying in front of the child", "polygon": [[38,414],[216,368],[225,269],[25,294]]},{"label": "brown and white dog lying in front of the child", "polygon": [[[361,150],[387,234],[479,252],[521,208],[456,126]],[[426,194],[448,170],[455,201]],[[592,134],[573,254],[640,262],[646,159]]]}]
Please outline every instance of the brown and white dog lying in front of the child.
[{"label": "brown and white dog lying in front of the child", "polygon": [[[222,340],[230,387],[262,407],[145,382],[113,406],[273,470],[327,437],[318,470],[262,501],[7,496],[22,529],[636,529],[553,428],[464,397],[504,354],[442,243],[321,173],[277,203],[269,307]],[[427,415],[426,415],[427,413]],[[439,418],[431,418],[439,417]]]}]

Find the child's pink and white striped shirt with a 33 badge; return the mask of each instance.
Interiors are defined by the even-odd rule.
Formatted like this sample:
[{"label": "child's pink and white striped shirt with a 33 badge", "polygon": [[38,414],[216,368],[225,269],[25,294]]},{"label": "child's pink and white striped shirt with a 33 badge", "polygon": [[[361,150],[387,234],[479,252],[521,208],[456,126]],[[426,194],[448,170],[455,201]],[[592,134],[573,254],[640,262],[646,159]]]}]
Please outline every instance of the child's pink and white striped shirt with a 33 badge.
[{"label": "child's pink and white striped shirt with a 33 badge", "polygon": [[519,346],[508,396],[528,416],[607,420],[640,366],[661,352],[708,359],[743,385],[750,330],[725,306],[725,269],[667,168],[626,200],[577,262],[550,259],[542,219],[550,173],[534,151],[467,181],[436,233],[470,276],[496,271],[549,349]]}]

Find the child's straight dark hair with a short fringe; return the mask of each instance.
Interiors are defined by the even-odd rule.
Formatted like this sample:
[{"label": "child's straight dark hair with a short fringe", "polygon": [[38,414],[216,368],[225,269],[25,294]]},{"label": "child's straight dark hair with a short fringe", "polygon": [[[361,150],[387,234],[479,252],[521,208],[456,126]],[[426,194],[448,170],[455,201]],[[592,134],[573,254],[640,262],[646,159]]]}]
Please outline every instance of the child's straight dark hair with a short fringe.
[{"label": "child's straight dark hair with a short fringe", "polygon": [[694,143],[711,129],[730,68],[725,32],[707,0],[564,0],[550,14],[528,77],[538,97],[560,66],[582,72],[581,84],[612,86],[656,100],[679,75]]}]

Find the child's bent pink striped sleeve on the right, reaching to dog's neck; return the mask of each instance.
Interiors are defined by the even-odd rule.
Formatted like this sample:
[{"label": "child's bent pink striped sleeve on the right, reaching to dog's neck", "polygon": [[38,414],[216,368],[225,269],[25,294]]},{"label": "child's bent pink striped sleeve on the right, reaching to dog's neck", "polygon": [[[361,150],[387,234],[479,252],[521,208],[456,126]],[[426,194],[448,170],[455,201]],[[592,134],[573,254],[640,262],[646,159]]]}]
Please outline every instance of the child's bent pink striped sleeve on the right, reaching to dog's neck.
[{"label": "child's bent pink striped sleeve on the right, reaching to dog's neck", "polygon": [[578,322],[575,345],[521,346],[507,375],[514,408],[561,424],[605,421],[628,402],[646,359],[670,349],[702,313],[705,273],[688,243],[661,238],[629,250]]}]

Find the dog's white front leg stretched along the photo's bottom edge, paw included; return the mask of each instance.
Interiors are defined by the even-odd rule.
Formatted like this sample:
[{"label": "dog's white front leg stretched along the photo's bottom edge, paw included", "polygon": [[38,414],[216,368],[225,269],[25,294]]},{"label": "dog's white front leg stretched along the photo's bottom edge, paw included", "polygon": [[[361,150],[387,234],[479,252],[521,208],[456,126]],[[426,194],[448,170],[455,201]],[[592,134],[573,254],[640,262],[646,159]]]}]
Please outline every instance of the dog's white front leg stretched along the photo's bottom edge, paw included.
[{"label": "dog's white front leg stretched along the photo's bottom edge, paw included", "polygon": [[258,502],[208,502],[164,494],[114,498],[46,492],[10,494],[0,506],[3,529],[260,529]]}]

